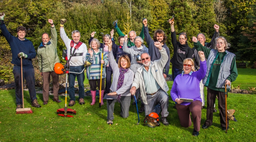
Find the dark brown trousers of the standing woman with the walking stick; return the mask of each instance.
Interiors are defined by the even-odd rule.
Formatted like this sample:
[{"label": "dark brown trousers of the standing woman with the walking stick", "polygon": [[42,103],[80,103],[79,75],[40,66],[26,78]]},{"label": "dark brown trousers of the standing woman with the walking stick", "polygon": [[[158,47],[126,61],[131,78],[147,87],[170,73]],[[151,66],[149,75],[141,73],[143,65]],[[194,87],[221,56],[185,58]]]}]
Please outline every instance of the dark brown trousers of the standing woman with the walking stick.
[{"label": "dark brown trousers of the standing woman with the walking stick", "polygon": [[[226,127],[226,106],[225,106],[225,94],[224,92],[215,91],[207,88],[207,113],[205,125],[211,126],[213,119],[213,105],[215,104],[216,95],[219,99],[219,111],[220,111],[220,125],[221,127]],[[228,122],[228,121],[227,121]],[[228,122],[229,124],[229,122]]]}]

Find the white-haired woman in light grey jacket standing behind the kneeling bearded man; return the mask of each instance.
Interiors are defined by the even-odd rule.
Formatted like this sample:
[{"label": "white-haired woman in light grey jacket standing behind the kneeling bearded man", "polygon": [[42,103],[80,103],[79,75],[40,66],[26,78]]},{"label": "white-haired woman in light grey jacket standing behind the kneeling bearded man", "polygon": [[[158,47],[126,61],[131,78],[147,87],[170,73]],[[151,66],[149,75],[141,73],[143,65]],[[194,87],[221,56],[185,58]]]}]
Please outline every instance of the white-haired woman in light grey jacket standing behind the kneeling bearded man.
[{"label": "white-haired woman in light grey jacket standing behind the kneeling bearded man", "polygon": [[[140,61],[140,55],[142,53],[148,53],[148,48],[143,44],[144,41],[143,39],[140,37],[140,36],[136,36],[134,38],[134,46],[132,46],[131,48],[128,48],[127,47],[127,39],[128,39],[128,35],[126,34],[124,36],[124,45],[123,45],[123,51],[127,54],[130,54],[131,55],[131,67],[130,69],[134,72],[134,75],[137,71],[138,68],[140,68],[140,66],[142,65],[142,62]],[[137,60],[137,58],[139,58]],[[137,89],[136,90],[136,93],[135,93],[135,97],[136,97],[136,100],[139,99],[139,93],[140,93],[140,89]],[[143,112],[144,111],[144,103],[142,101],[142,99],[140,99],[140,102],[141,102],[141,107],[140,107],[140,110],[139,112]],[[135,105],[135,100],[134,102],[132,103],[133,105]]]}]

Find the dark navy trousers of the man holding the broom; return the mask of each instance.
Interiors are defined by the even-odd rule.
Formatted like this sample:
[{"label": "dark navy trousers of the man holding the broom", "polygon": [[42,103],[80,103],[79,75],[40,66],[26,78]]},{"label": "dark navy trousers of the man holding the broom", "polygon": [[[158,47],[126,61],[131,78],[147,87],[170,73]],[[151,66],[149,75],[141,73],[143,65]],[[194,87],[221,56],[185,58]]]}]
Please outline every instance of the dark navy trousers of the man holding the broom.
[{"label": "dark navy trousers of the man holding the broom", "polygon": [[[16,104],[22,105],[22,90],[23,87],[21,86],[21,67],[14,66],[12,73],[14,75],[14,82],[15,82],[15,95],[16,95]],[[28,92],[30,96],[31,102],[36,98],[36,88],[35,88],[35,70],[34,68],[22,68],[22,76],[23,82],[24,78],[26,79],[26,83],[28,85]]]}]

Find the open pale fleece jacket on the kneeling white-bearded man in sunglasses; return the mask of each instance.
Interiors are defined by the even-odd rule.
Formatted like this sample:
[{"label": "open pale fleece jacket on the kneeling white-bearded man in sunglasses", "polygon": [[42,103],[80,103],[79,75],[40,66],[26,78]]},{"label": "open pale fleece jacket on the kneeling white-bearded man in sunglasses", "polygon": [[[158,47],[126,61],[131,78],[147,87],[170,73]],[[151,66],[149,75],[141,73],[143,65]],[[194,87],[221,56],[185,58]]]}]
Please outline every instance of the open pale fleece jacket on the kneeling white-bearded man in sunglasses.
[{"label": "open pale fleece jacket on the kneeling white-bearded man in sunglasses", "polygon": [[[168,55],[164,48],[162,50],[159,50],[159,52],[161,54],[161,58],[159,60],[155,60],[154,62],[152,61],[150,62],[152,65],[151,73],[153,77],[156,79],[156,82],[158,83],[158,85],[167,93],[167,91],[169,90],[169,87],[164,79],[162,71],[168,60]],[[135,78],[132,82],[132,86],[135,86],[136,89],[140,88],[140,95],[141,95],[142,101],[144,102],[144,104],[148,104],[142,73],[143,73],[143,65],[136,71]]]}]

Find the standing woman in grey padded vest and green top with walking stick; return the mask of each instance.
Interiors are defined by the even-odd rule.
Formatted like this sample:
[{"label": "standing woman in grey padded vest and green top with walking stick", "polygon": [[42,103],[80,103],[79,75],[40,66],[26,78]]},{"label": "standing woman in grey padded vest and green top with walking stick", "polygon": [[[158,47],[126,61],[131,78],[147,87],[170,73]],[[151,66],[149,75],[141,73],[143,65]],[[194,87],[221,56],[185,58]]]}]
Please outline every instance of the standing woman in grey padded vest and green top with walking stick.
[{"label": "standing woman in grey padded vest and green top with walking stick", "polygon": [[[230,88],[231,82],[236,80],[236,55],[228,52],[229,44],[226,39],[219,36],[215,39],[215,49],[208,49],[198,42],[196,37],[192,38],[197,51],[204,51],[207,59],[207,71],[203,79],[204,86],[207,87],[207,113],[203,129],[212,125],[213,105],[216,95],[219,99],[220,125],[222,130],[226,130],[226,105],[225,105],[225,83]],[[229,122],[227,121],[227,126]]]}]

